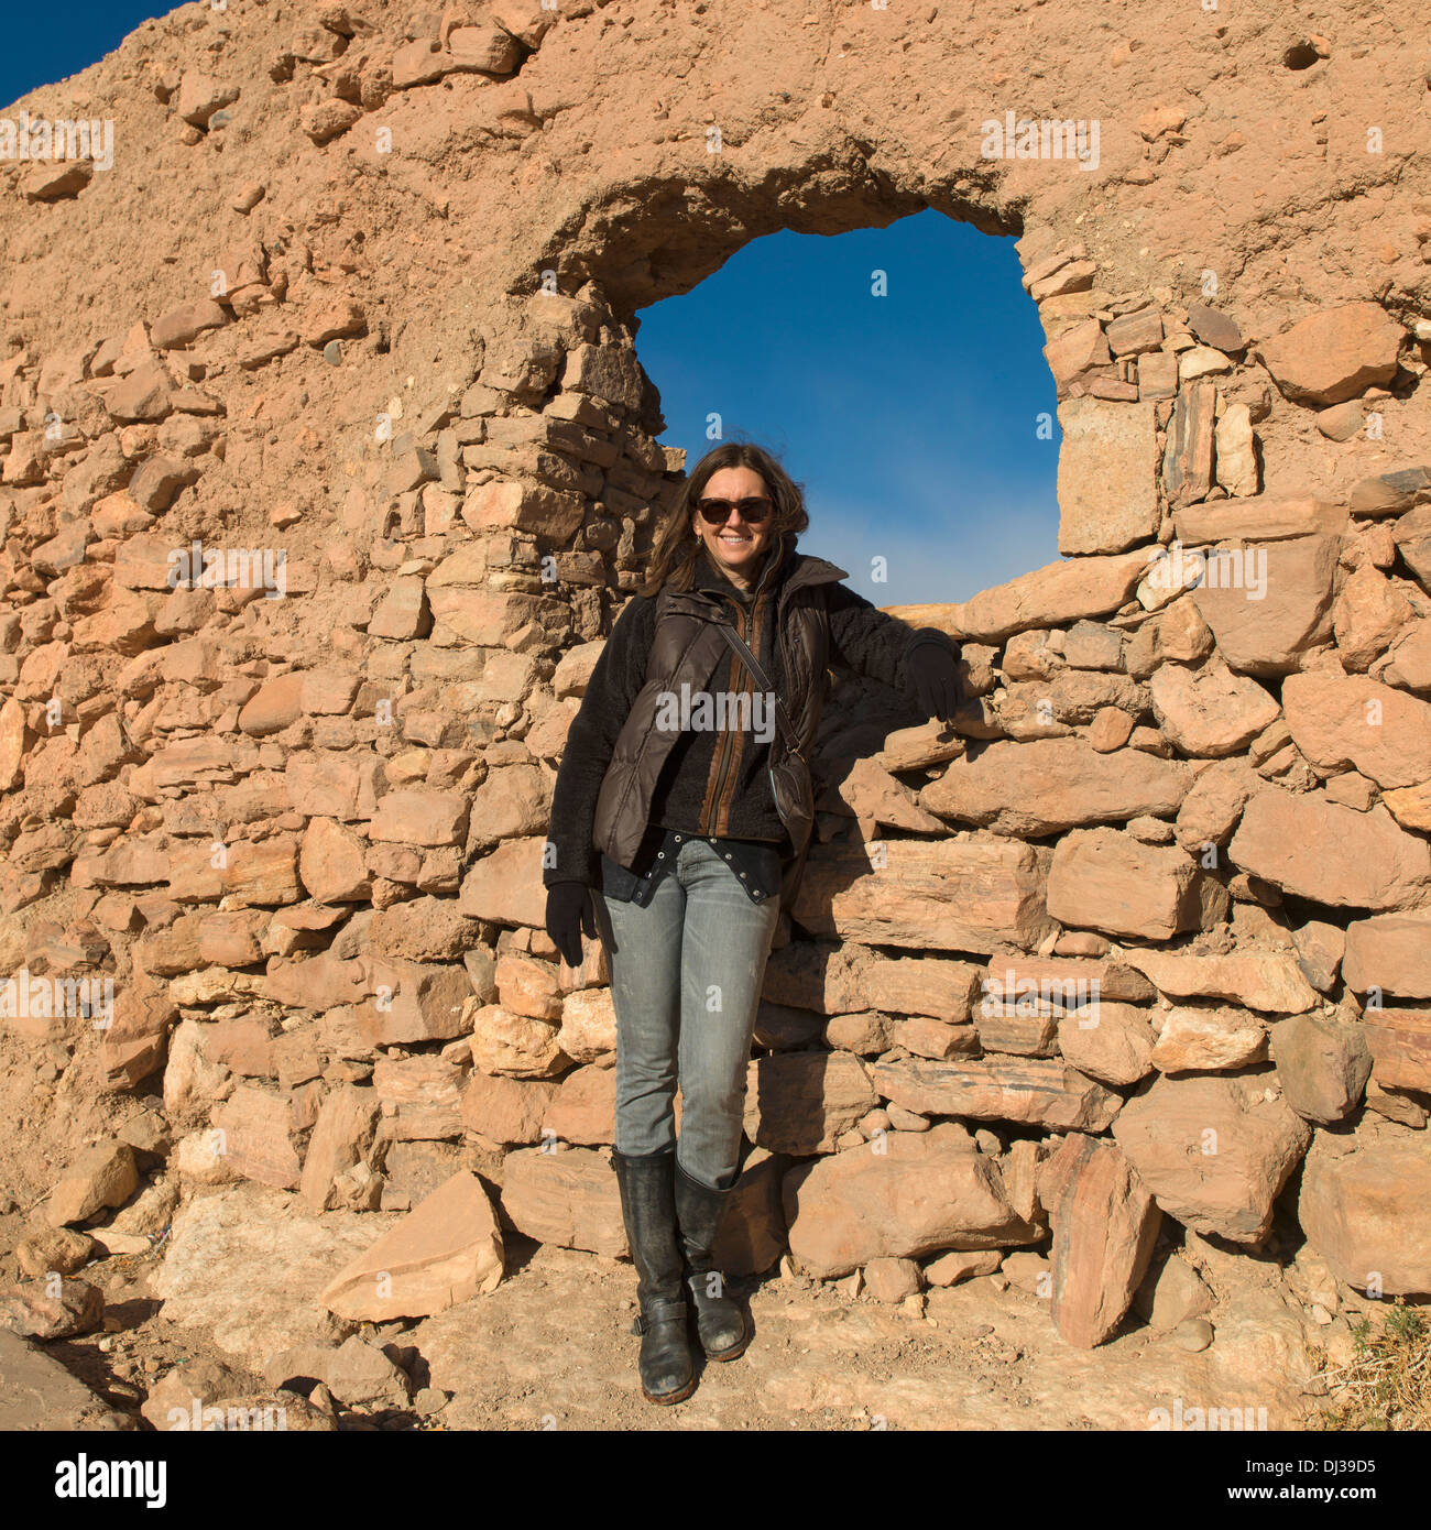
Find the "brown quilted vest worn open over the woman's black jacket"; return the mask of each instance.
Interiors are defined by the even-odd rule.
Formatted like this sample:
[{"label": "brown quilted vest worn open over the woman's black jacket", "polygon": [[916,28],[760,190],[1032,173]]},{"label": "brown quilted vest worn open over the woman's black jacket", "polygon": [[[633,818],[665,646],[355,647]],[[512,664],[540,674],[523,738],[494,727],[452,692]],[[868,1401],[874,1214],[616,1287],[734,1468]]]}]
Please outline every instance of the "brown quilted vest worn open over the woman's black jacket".
[{"label": "brown quilted vest worn open over the woman's black jacket", "polygon": [[[799,739],[799,763],[807,779],[810,750],[825,705],[830,659],[830,615],[822,584],[849,575],[825,558],[797,555],[776,598],[776,632],[782,644],[787,693],[781,696]],[[715,595],[692,589],[663,589],[657,597],[657,626],[646,667],[646,682],[637,693],[601,777],[597,797],[592,843],[620,866],[631,866],[650,814],[650,797],[680,731],[663,733],[655,727],[658,696],[706,687],[729,653],[716,623],[727,618],[727,607]],[[784,736],[776,730],[770,741],[771,763],[787,757]],[[811,793],[805,794],[807,799]],[[784,817],[782,817],[782,822]],[[796,854],[787,863],[781,903],[788,906],[805,863],[813,815],[785,822]]]}]

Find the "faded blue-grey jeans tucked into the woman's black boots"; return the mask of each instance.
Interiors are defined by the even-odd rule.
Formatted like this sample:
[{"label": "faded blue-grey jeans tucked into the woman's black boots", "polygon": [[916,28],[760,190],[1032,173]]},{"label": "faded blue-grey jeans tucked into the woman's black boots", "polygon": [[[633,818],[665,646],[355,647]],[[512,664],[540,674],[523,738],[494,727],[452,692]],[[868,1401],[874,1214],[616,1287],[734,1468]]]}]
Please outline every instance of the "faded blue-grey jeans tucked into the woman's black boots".
[{"label": "faded blue-grey jeans tucked into the woman's black boots", "polygon": [[681,1169],[729,1189],[779,900],[753,903],[704,840],[686,840],[646,907],[598,894],[595,913],[617,1011],[617,1152],[675,1144],[680,1082]]}]

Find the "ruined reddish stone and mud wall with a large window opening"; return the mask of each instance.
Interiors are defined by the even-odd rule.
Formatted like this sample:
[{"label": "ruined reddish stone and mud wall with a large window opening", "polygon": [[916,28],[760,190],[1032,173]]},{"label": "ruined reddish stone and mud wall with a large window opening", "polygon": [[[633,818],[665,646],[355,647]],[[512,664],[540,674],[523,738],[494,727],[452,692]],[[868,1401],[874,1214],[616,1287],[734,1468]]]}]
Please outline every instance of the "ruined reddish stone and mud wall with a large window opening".
[{"label": "ruined reddish stone and mud wall with a large window opening", "polygon": [[[187,5],[24,103],[115,153],[0,188],[11,1327],[95,1327],[73,1271],[167,1233],[168,1314],[294,1374],[513,1230],[626,1252],[540,866],[684,471],[635,311],[923,207],[1018,236],[1062,557],[894,609],[963,643],[953,728],[833,698],[727,1268],[1013,1281],[1084,1348],[1206,1343],[1253,1256],[1312,1330],[1431,1294],[1416,9],[799,9]],[[1096,173],[981,155],[1071,99]],[[223,1248],[266,1319],[205,1307]]]}]

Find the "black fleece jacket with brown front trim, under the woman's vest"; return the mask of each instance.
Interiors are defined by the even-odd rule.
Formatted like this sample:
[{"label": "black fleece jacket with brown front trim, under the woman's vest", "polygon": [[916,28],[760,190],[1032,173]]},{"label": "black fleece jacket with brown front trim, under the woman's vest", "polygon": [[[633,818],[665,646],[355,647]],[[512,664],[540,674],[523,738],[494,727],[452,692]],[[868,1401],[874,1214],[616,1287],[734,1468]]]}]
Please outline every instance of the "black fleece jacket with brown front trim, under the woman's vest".
[{"label": "black fleece jacket with brown front trim, under the woman's vest", "polygon": [[[771,548],[756,588],[748,592],[738,589],[709,557],[696,565],[693,581],[695,588],[709,589],[730,601],[732,626],[742,632],[787,705],[790,679],[774,641],[776,601],[800,557],[794,551],[794,539],[787,536]],[[880,679],[914,701],[906,673],[909,649],[918,641],[938,641],[953,647],[952,640],[938,629],[915,630],[885,615],[845,584],[825,584],[823,591],[830,609],[831,664]],[[557,881],[600,886],[598,854],[592,848],[597,797],[617,734],[646,682],[655,610],[655,597],[647,595],[632,595],[621,607],[592,669],[582,707],[571,722],[546,835],[551,851],[542,881],[548,887]],[[707,688],[739,693],[751,690],[753,682],[732,652],[722,659]],[[770,791],[768,754],[768,744],[748,730],[732,730],[729,739],[724,730],[686,730],[672,745],[657,779],[649,825],[690,834],[768,840],[782,854],[788,854],[790,837]]]}]

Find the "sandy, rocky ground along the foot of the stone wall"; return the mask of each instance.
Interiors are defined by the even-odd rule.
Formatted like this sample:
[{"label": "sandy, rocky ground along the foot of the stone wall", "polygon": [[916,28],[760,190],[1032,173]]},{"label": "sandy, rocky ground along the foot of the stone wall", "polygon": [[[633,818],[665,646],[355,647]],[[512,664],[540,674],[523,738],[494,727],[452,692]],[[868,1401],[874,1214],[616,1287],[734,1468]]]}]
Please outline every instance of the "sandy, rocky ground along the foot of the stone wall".
[{"label": "sandy, rocky ground along the foot of the stone wall", "polygon": [[78,1271],[103,1291],[101,1327],[38,1346],[49,1366],[0,1334],[0,1426],[168,1427],[167,1411],[191,1417],[197,1395],[268,1400],[289,1427],[338,1429],[1133,1431],[1178,1398],[1185,1415],[1250,1408],[1258,1427],[1295,1429],[1324,1406],[1316,1372],[1350,1359],[1347,1317],[1376,1310],[1344,1290],[1338,1316],[1313,1316],[1281,1274],[1281,1232],[1263,1261],[1194,1236],[1175,1258],[1209,1282],[1206,1314],[1162,1331],[1168,1313],[1133,1317],[1093,1354],[1059,1337],[1033,1267],[1015,1267],[1019,1284],[978,1276],[897,1305],[776,1271],[736,1287],[756,1330],[747,1354],[706,1365],[686,1403],[654,1408],[637,1385],[624,1261],[511,1233],[510,1274],[490,1294],[421,1320],[334,1325],[311,1297],[354,1218],[288,1215],[288,1201],[214,1190],[155,1252]]}]

